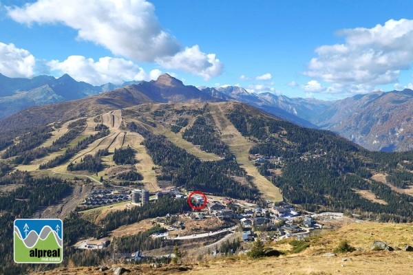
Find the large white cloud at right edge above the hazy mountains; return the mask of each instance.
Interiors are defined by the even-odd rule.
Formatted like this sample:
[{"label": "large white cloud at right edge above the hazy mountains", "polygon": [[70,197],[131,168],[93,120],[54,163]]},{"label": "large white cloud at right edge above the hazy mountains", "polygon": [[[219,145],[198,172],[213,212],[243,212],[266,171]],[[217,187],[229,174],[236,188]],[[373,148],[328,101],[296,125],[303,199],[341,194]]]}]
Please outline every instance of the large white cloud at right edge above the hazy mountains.
[{"label": "large white cloud at right edge above the hazy mountains", "polygon": [[[394,83],[413,63],[413,20],[389,20],[374,28],[341,30],[345,43],[317,47],[310,78],[332,83],[326,92],[366,93],[376,85]],[[310,86],[312,87],[312,86]],[[310,88],[309,87],[309,88]]]}]

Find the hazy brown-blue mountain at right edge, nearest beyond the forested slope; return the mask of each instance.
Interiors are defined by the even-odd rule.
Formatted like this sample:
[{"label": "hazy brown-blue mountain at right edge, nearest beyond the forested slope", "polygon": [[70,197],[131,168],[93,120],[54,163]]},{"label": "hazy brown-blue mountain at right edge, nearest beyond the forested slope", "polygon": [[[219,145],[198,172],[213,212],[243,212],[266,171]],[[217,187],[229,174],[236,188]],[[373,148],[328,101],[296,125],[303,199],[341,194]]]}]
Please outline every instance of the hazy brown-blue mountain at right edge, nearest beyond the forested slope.
[{"label": "hazy brown-blue mountain at right edge, nearest beyond the forested slope", "polygon": [[413,91],[378,91],[337,100],[318,126],[374,151],[413,149]]}]

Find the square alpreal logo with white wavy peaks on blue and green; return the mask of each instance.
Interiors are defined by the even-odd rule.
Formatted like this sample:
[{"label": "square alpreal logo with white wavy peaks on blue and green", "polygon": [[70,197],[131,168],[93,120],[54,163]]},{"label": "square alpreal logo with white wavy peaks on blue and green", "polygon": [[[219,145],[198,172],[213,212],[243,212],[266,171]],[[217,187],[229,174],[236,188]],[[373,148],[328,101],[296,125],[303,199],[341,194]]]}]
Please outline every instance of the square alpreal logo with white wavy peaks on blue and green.
[{"label": "square alpreal logo with white wavy peaks on blue and green", "polygon": [[61,263],[63,222],[61,219],[16,219],[14,262]]}]

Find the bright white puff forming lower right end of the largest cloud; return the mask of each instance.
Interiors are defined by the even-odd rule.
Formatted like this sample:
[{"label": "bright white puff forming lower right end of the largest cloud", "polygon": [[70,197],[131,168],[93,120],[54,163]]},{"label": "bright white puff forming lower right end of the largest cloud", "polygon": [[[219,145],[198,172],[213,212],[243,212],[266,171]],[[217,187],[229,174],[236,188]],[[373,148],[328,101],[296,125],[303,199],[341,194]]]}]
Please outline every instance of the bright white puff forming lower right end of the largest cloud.
[{"label": "bright white puff forming lower right end of the largest cloud", "polygon": [[178,52],[174,56],[165,56],[156,60],[166,69],[180,69],[184,72],[191,72],[209,80],[214,76],[222,74],[224,65],[215,54],[205,54],[200,51],[198,45],[186,47],[183,52]]}]

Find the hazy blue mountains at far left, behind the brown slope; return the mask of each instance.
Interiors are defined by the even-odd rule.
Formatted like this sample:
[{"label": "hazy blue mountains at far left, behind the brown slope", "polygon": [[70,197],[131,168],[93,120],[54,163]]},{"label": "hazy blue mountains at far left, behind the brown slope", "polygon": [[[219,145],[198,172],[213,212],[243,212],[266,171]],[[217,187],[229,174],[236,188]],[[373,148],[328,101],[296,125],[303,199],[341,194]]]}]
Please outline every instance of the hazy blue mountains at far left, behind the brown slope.
[{"label": "hazy blue mountains at far left, behind the brown slope", "polygon": [[0,118],[5,118],[27,107],[85,98],[138,83],[140,82],[130,81],[123,85],[107,83],[94,86],[82,81],[78,82],[68,74],[60,78],[53,76],[8,78],[0,74]]}]

